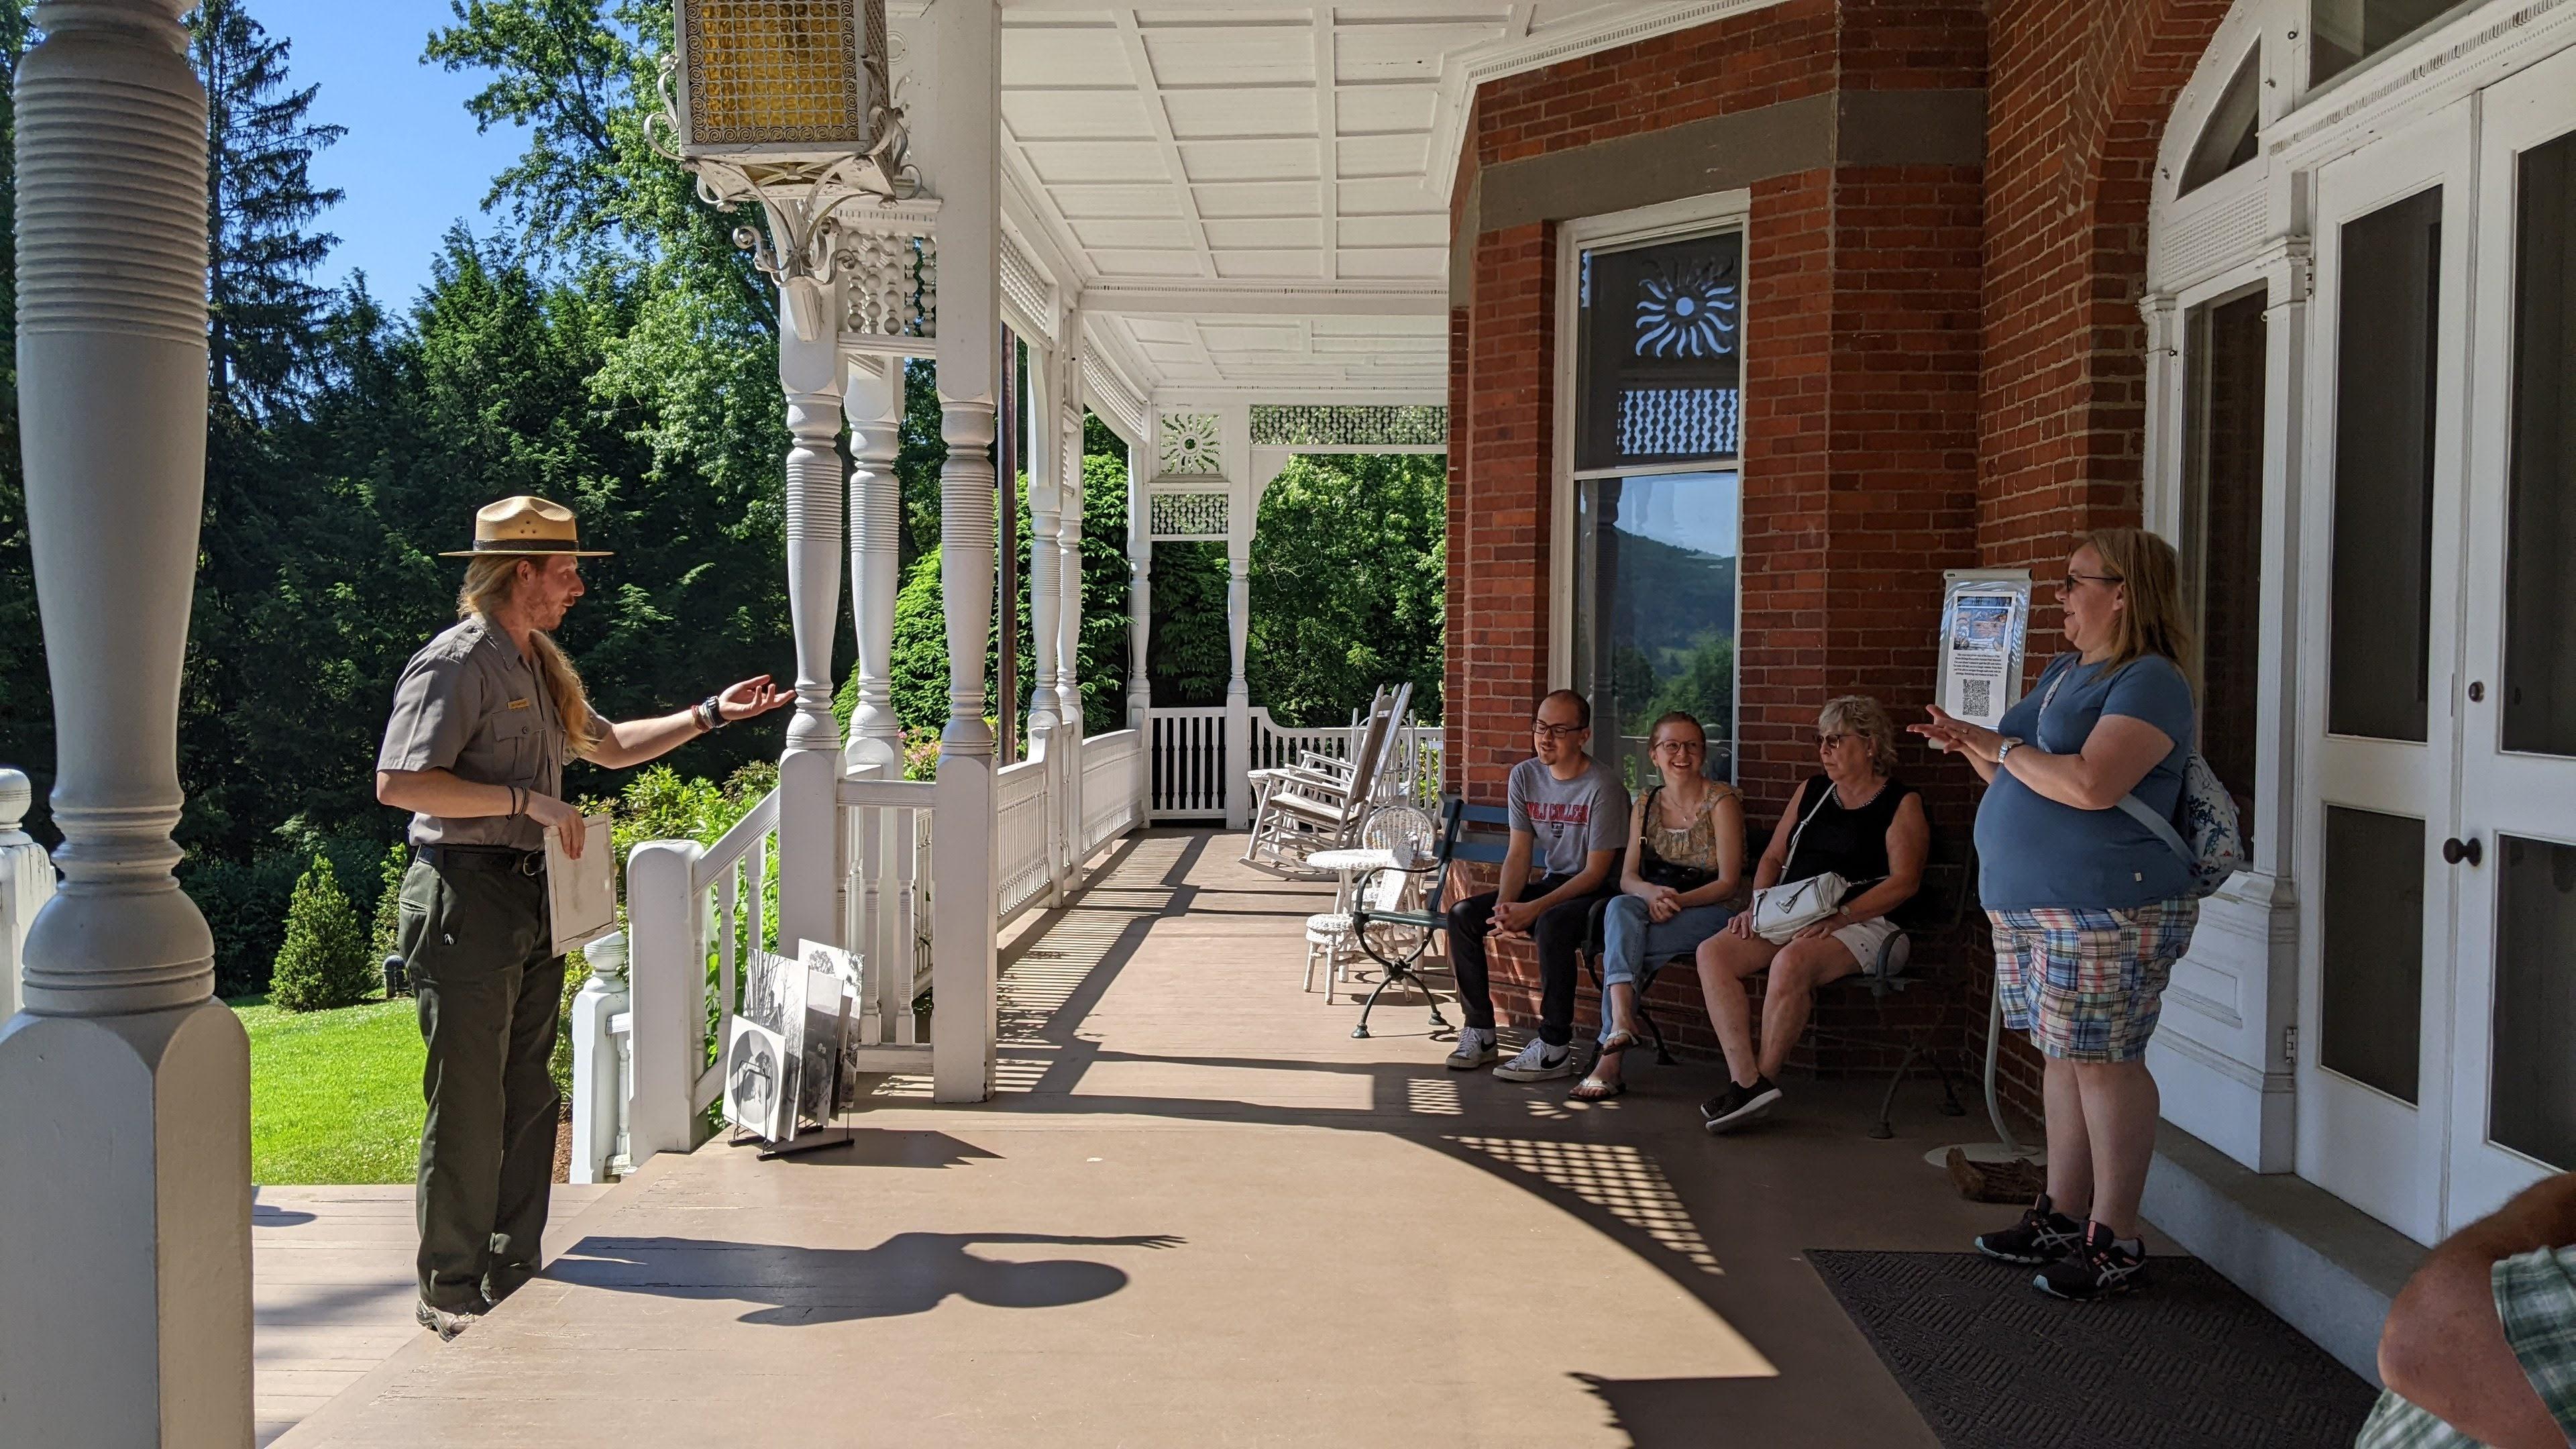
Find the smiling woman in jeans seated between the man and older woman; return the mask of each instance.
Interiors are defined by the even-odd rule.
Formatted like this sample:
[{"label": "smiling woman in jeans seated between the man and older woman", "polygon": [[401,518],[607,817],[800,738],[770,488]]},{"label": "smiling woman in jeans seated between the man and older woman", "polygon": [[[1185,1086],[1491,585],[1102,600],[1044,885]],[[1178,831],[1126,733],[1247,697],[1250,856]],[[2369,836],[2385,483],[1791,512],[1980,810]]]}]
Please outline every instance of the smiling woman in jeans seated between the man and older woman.
[{"label": "smiling woman in jeans seated between the man and older woman", "polygon": [[1726,926],[1744,884],[1744,797],[1703,773],[1708,732],[1674,709],[1646,737],[1664,781],[1628,810],[1628,864],[1620,895],[1602,910],[1602,1042],[1574,1101],[1628,1091],[1620,1057],[1636,1044],[1636,993],[1651,964],[1695,951]]}]

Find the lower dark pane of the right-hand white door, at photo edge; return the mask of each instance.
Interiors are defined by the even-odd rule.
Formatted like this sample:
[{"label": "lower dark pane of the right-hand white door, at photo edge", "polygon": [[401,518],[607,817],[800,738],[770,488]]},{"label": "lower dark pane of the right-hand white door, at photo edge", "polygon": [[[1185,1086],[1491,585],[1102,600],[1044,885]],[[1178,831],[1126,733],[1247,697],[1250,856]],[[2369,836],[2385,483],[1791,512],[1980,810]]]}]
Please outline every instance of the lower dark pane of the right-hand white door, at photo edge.
[{"label": "lower dark pane of the right-hand white door, at photo edge", "polygon": [[2576,846],[2501,835],[2486,1134],[2576,1168]]}]

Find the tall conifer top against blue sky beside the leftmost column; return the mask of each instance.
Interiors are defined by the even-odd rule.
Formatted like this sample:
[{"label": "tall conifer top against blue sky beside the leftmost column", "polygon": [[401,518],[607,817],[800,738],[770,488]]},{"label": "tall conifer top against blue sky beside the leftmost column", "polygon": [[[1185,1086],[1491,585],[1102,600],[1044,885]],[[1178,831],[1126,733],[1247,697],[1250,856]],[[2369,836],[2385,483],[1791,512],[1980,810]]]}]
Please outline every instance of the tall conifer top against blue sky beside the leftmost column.
[{"label": "tall conifer top against blue sky beside the leftmost column", "polygon": [[348,134],[309,119],[314,85],[286,80],[289,41],[242,0],[204,0],[188,49],[206,83],[206,366],[216,407],[265,418],[294,392],[327,294],[314,286],[340,237],[304,227],[340,201],[312,157]]}]

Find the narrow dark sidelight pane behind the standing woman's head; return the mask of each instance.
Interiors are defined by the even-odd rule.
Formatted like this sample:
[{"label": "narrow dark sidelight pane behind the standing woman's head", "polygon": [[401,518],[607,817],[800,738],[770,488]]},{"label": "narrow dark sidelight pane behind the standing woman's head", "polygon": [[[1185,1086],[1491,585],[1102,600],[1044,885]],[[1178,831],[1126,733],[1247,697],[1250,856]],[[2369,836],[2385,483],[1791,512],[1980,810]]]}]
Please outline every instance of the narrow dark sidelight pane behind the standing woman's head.
[{"label": "narrow dark sidelight pane behind the standing woman's head", "polygon": [[2254,843],[2262,688],[2264,294],[2195,307],[2184,343],[2182,585],[2200,619],[2200,753]]}]

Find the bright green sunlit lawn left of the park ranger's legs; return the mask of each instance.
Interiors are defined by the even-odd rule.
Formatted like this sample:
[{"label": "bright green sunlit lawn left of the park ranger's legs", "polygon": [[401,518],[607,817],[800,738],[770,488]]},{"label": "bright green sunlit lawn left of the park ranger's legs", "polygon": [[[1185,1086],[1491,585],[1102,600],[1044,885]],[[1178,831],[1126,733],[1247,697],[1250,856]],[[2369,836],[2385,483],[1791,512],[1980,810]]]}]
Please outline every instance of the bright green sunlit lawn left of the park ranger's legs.
[{"label": "bright green sunlit lawn left of the park ranger's legs", "polygon": [[250,1181],[407,1183],[420,1165],[412,1000],[291,1013],[232,1008],[250,1031]]}]

